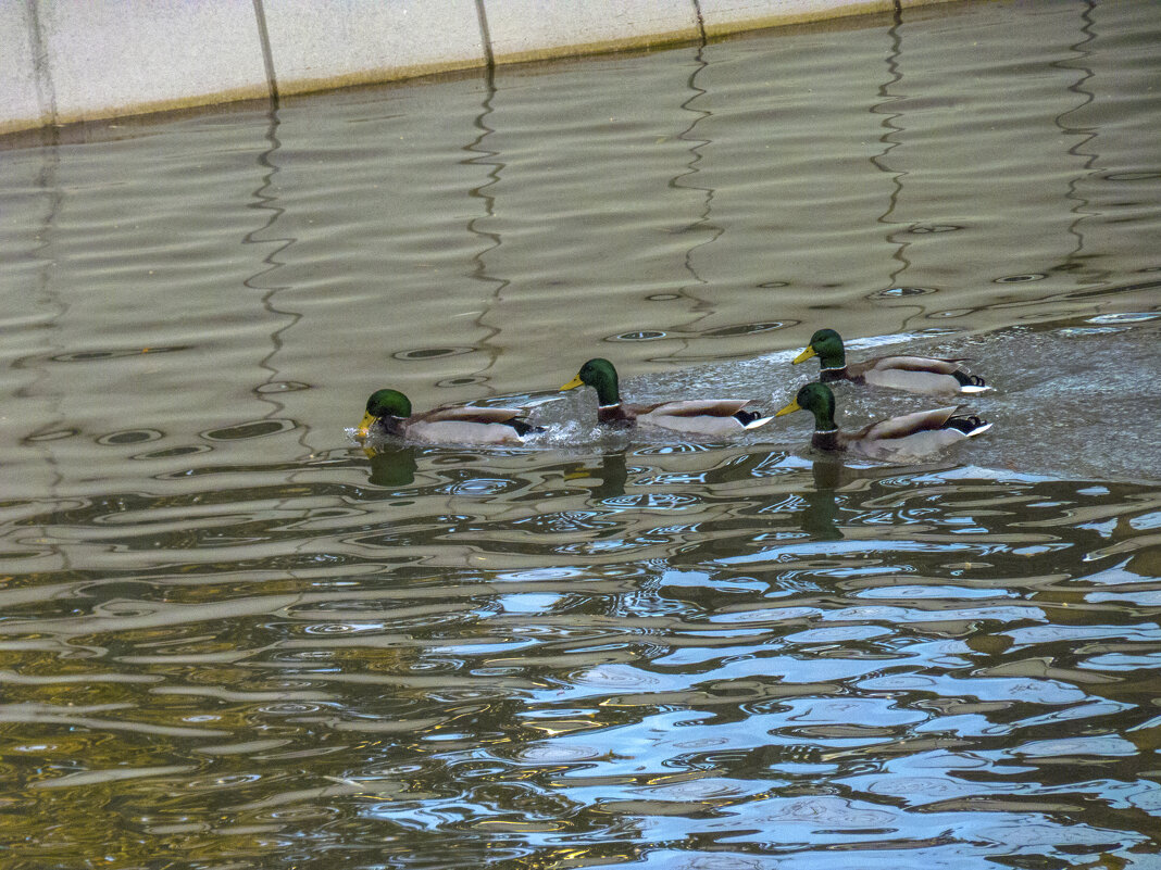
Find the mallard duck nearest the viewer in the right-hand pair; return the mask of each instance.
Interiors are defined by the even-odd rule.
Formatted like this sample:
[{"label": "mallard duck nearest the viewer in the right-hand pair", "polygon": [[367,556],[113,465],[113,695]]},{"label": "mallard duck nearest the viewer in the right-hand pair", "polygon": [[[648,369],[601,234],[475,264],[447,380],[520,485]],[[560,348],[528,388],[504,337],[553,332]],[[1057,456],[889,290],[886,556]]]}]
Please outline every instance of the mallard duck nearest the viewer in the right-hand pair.
[{"label": "mallard duck nearest the viewer in the right-hand pair", "polygon": [[959,407],[920,411],[841,432],[835,425],[835,394],[819,382],[807,384],[774,416],[793,411],[814,414],[810,444],[819,450],[848,450],[873,459],[900,459],[933,454],[957,441],[987,432],[991,423],[974,414],[958,414]]}]

